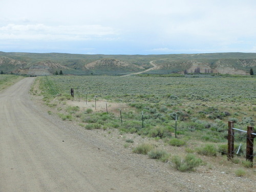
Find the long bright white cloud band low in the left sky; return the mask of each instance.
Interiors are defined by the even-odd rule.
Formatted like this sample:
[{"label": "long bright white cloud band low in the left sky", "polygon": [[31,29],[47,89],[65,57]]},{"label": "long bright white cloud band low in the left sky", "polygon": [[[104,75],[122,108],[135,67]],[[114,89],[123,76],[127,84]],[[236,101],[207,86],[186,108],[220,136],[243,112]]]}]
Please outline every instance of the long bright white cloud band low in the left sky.
[{"label": "long bright white cloud band low in the left sky", "polygon": [[100,25],[47,26],[9,24],[0,27],[0,39],[19,40],[88,40],[93,38],[118,37],[117,30]]}]

